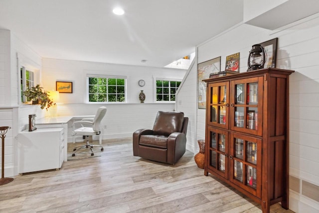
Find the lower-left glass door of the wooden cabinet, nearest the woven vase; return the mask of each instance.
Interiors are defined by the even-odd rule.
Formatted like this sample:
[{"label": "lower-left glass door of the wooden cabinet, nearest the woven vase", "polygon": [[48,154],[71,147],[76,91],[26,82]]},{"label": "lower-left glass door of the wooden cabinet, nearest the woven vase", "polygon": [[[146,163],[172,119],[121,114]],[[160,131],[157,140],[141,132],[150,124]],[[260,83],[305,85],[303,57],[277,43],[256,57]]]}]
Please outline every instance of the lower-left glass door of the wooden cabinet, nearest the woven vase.
[{"label": "lower-left glass door of the wooden cabinet, nearest the woven vase", "polygon": [[228,178],[228,132],[209,127],[207,134],[206,138],[209,141],[207,165],[220,176]]}]

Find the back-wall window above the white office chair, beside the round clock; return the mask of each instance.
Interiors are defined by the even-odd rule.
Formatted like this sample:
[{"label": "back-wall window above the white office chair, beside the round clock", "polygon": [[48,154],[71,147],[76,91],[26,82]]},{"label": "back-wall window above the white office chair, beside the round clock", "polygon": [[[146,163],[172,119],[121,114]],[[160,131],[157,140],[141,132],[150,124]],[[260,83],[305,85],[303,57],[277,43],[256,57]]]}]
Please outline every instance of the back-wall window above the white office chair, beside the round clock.
[{"label": "back-wall window above the white office chair, beside the round clock", "polygon": [[88,102],[126,102],[126,76],[87,75]]}]

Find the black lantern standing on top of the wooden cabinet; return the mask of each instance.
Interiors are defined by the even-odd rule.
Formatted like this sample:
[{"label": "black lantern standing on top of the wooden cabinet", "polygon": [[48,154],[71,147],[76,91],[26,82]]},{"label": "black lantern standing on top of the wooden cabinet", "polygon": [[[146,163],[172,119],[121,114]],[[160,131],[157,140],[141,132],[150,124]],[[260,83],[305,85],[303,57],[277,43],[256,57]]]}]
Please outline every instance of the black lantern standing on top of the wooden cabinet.
[{"label": "black lantern standing on top of the wooden cabinet", "polygon": [[249,51],[247,71],[264,68],[265,61],[266,61],[265,48],[262,47],[261,44],[253,45],[252,49]]}]

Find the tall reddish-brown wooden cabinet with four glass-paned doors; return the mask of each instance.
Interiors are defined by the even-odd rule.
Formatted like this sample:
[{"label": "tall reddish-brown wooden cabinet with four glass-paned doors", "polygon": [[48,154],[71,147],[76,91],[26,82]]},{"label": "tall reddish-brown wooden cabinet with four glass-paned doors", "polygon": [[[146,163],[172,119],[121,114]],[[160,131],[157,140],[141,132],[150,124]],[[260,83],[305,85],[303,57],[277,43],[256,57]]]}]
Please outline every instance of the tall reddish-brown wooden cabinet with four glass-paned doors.
[{"label": "tall reddish-brown wooden cabinet with four glass-paned doors", "polygon": [[260,69],[205,79],[204,174],[261,204],[288,209],[288,88],[292,70]]}]

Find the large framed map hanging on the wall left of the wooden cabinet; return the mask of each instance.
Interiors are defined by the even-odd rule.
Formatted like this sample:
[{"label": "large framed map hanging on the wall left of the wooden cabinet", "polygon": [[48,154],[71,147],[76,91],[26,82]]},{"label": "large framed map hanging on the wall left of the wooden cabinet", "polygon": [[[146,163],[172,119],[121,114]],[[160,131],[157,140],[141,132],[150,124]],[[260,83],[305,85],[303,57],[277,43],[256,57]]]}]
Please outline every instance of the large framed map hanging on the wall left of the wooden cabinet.
[{"label": "large framed map hanging on the wall left of the wooden cabinet", "polygon": [[209,74],[220,71],[220,56],[197,64],[198,109],[206,109],[206,82]]}]

